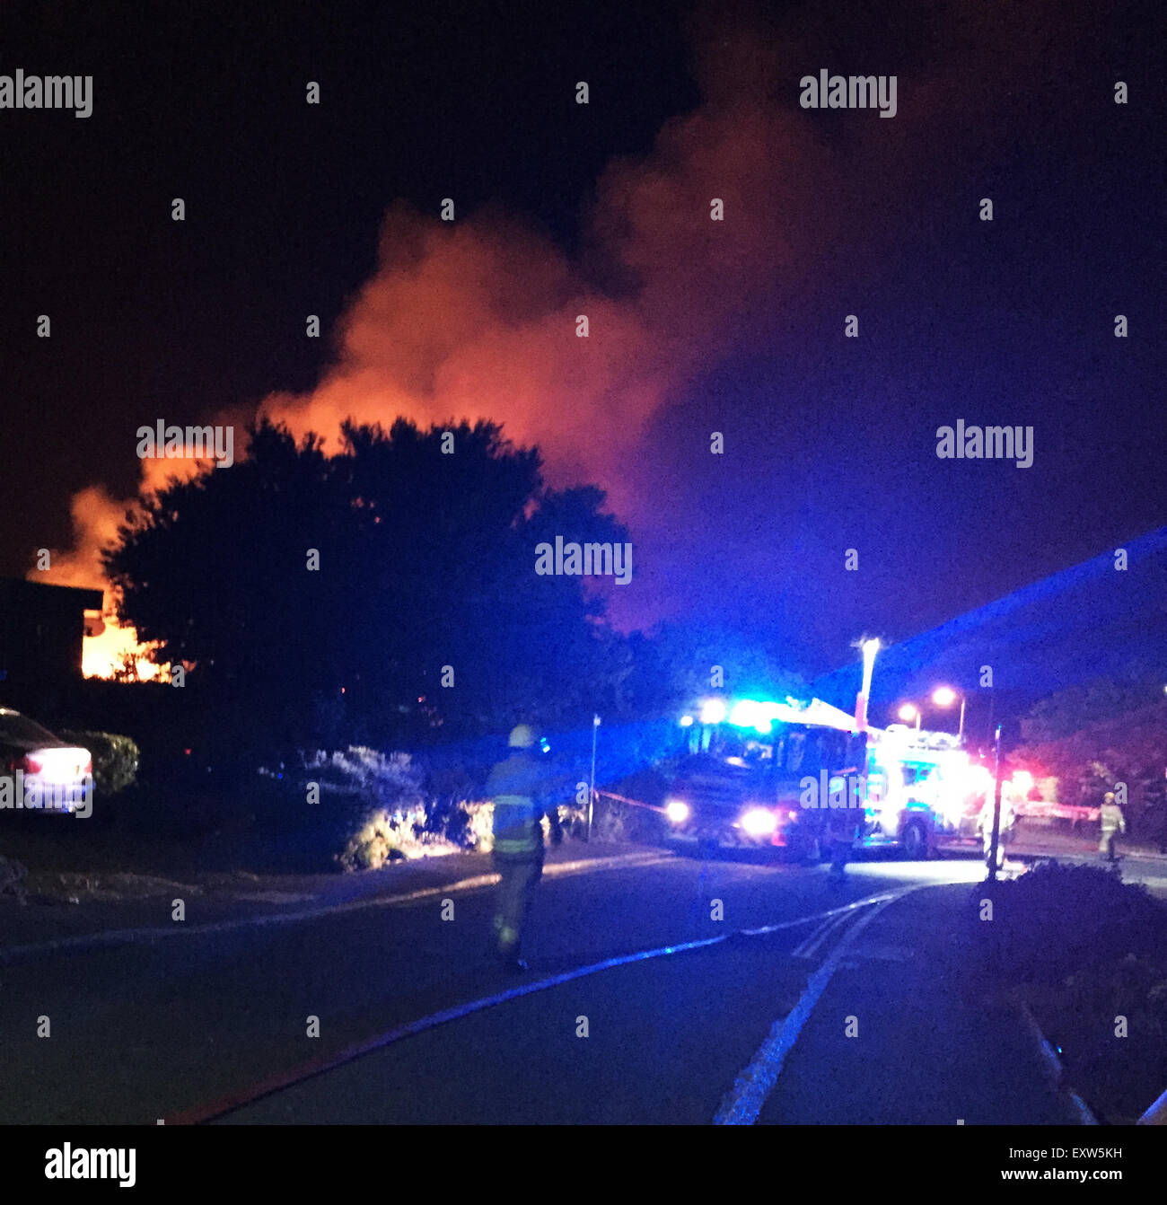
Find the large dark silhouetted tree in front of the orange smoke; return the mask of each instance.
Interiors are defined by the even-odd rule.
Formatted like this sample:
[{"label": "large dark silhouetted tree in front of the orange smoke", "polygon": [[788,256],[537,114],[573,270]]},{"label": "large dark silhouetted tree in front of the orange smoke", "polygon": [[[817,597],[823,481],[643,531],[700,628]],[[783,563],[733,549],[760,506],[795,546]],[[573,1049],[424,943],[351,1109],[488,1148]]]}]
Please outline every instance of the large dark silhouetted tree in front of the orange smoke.
[{"label": "large dark silhouetted tree in front of the orange smoke", "polygon": [[547,489],[494,423],[346,424],[330,457],[264,421],[231,469],[147,499],[105,560],[119,617],[158,663],[194,664],[219,727],[287,747],[453,736],[609,704],[602,601],[535,572],[556,535],[626,541],[602,506]]}]

